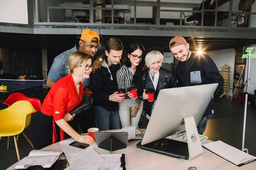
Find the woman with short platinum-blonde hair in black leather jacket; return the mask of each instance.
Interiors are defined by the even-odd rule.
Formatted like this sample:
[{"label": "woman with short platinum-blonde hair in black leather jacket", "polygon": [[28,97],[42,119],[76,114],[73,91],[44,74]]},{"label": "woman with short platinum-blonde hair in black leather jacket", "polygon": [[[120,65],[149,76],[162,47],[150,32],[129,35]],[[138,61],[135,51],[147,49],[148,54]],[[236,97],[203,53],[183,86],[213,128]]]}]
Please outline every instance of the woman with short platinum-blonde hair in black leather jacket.
[{"label": "woman with short platinum-blonde hair in black leather jacket", "polygon": [[[157,100],[161,89],[177,87],[177,79],[172,71],[161,68],[163,62],[163,50],[160,47],[153,46],[143,52],[143,59],[148,67],[140,74],[138,83],[138,96],[144,99],[144,111],[147,119],[150,119],[152,108]],[[154,92],[154,100],[149,102],[147,90]]]}]

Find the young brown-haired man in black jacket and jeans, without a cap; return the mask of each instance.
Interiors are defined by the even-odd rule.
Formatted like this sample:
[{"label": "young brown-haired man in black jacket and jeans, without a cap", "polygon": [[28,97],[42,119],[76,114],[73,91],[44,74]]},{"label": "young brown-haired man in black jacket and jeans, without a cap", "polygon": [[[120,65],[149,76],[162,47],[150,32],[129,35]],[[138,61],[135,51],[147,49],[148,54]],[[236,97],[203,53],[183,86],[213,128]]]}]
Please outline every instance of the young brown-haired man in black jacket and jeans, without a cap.
[{"label": "young brown-haired man in black jacket and jeans, without a cap", "polygon": [[105,44],[107,57],[103,60],[101,69],[92,74],[90,80],[100,131],[120,128],[118,102],[122,102],[125,96],[117,94],[116,72],[121,66],[122,51],[122,42],[117,38],[110,38]]}]

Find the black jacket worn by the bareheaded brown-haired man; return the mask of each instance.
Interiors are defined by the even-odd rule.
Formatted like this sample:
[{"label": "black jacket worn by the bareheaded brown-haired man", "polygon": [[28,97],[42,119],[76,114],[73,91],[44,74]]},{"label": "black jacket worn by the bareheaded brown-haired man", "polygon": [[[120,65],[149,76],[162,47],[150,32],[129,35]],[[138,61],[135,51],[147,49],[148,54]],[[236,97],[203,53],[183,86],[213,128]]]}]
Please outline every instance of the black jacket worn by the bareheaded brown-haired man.
[{"label": "black jacket worn by the bareheaded brown-haired man", "polygon": [[101,67],[100,70],[91,74],[90,87],[93,88],[93,104],[105,108],[107,111],[116,111],[118,102],[109,101],[109,96],[118,90],[116,72],[108,72],[108,68]]}]

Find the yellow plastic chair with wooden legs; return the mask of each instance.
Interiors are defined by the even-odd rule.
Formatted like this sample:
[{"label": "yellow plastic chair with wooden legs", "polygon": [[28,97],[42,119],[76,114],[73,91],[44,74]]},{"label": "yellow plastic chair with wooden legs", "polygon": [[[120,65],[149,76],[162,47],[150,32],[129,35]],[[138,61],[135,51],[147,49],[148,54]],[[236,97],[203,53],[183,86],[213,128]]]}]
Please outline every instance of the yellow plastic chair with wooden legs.
[{"label": "yellow plastic chair with wooden legs", "polygon": [[[0,140],[4,136],[14,136],[14,142],[18,160],[20,153],[18,149],[16,135],[22,133],[29,144],[34,148],[32,142],[23,130],[29,125],[31,113],[36,112],[32,104],[26,100],[20,100],[12,104],[9,108],[0,110]],[[9,142],[9,141],[8,141]]]}]

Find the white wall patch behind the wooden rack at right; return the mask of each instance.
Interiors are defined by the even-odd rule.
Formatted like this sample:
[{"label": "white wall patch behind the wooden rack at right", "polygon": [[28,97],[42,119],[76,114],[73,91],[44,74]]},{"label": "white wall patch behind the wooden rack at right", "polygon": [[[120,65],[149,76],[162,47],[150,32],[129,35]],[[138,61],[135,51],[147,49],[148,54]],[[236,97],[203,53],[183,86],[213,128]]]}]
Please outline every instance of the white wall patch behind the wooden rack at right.
[{"label": "white wall patch behind the wooden rack at right", "polygon": [[[222,65],[227,64],[230,66],[230,86],[233,82],[234,77],[234,66],[235,66],[235,56],[236,50],[234,48],[224,49],[224,50],[216,50],[216,51],[209,51],[209,56],[215,62],[217,68],[219,69]],[[230,87],[233,88],[233,87]],[[233,91],[230,91],[232,95]]]}]

